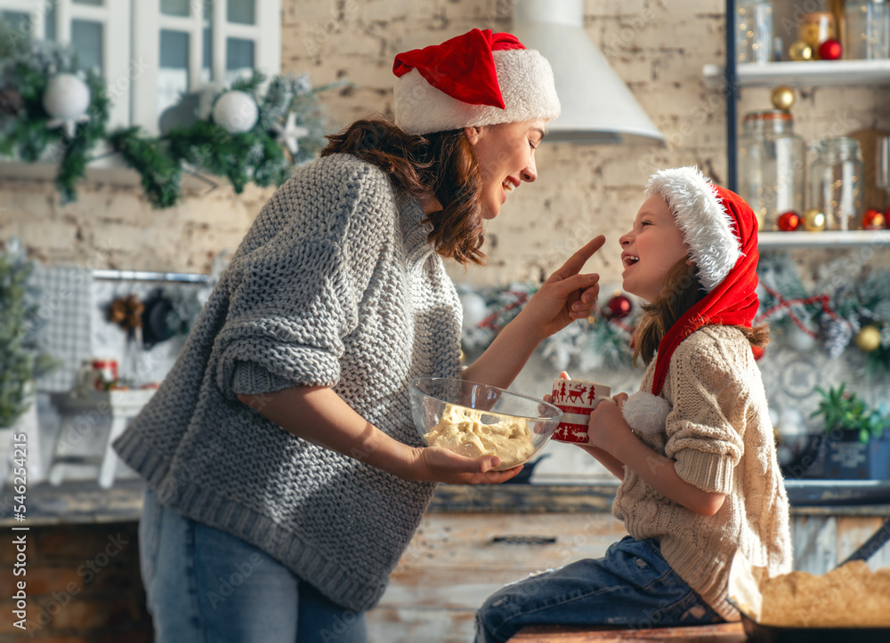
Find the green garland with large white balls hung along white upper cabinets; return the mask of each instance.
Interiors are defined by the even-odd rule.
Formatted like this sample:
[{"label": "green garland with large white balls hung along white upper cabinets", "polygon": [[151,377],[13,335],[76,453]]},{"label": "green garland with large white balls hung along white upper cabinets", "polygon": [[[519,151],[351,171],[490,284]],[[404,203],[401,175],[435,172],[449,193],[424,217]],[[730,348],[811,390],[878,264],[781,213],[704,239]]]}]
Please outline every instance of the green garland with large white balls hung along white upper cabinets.
[{"label": "green garland with large white balls hung along white upper cabinets", "polygon": [[307,76],[254,73],[223,91],[207,90],[205,108],[190,125],[159,137],[139,127],[106,132],[111,100],[100,76],[81,69],[69,49],[29,44],[0,63],[0,154],[22,161],[59,162],[62,202],[76,200],[77,183],[97,155],[118,154],[141,176],[158,208],[182,199],[182,173],[204,170],[225,176],[236,193],[247,183],[278,186],[295,165],[324,144],[316,96],[344,83],[312,88]]}]

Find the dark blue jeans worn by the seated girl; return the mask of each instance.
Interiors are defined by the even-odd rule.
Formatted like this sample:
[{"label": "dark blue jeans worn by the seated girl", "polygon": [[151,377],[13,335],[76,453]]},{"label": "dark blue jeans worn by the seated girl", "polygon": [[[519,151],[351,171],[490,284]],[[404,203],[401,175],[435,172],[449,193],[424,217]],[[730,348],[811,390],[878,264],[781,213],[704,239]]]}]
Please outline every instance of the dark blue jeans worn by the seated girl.
[{"label": "dark blue jeans worn by the seated girl", "polygon": [[476,641],[506,641],[532,624],[644,629],[722,622],[667,565],[659,543],[625,536],[602,559],[578,560],[496,591],[476,615]]}]

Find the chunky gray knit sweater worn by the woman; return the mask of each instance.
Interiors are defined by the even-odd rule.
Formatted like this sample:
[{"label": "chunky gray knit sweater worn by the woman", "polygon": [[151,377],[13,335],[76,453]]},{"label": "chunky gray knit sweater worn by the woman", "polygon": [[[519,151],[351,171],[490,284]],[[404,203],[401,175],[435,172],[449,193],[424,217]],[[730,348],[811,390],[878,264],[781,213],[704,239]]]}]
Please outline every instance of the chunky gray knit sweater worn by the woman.
[{"label": "chunky gray knit sweater worn by the woman", "polygon": [[160,502],[268,552],[336,603],[383,593],[433,494],[295,438],[237,393],[331,387],[422,443],[409,379],[457,376],[460,303],[417,199],[334,155],[271,197],[160,389],[114,446]]}]

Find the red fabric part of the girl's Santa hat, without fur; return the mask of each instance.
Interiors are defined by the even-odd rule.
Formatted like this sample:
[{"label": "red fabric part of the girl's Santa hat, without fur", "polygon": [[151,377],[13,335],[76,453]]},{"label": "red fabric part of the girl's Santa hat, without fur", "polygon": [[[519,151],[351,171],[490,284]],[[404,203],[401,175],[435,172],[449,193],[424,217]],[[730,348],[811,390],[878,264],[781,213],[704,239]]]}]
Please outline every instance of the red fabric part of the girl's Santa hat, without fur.
[{"label": "red fabric part of the girl's Santa hat, without fur", "polygon": [[[716,197],[733,221],[732,231],[739,239],[741,256],[735,262],[730,273],[705,295],[704,299],[687,310],[683,317],[676,320],[659,343],[656,357],[655,380],[652,382],[652,393],[659,395],[667,377],[667,367],[676,347],[701,326],[748,326],[757,313],[757,220],[750,206],[744,199],[728,189],[712,186]],[[752,346],[755,358],[763,355],[764,350]]]}]

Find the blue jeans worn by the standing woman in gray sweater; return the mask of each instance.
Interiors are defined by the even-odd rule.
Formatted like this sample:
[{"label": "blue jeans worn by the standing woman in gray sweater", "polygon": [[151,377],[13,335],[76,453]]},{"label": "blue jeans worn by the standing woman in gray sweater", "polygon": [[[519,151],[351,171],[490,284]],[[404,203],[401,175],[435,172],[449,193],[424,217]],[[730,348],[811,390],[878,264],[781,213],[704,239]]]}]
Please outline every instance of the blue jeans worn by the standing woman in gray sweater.
[{"label": "blue jeans worn by the standing woman in gray sweater", "polygon": [[142,583],[158,643],[365,641],[364,613],[340,607],[268,554],[145,494]]}]

